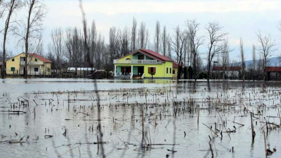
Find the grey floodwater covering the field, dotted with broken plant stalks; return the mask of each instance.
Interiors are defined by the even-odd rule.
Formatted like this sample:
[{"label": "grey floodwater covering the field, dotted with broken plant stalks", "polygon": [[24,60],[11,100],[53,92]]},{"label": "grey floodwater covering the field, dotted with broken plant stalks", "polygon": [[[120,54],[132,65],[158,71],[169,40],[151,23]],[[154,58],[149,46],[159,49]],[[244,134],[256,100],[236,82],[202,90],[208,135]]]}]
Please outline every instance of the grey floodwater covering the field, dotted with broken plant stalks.
[{"label": "grey floodwater covering the field, dotted with broken plant stalks", "polygon": [[281,157],[280,82],[96,83],[1,79],[0,157]]}]

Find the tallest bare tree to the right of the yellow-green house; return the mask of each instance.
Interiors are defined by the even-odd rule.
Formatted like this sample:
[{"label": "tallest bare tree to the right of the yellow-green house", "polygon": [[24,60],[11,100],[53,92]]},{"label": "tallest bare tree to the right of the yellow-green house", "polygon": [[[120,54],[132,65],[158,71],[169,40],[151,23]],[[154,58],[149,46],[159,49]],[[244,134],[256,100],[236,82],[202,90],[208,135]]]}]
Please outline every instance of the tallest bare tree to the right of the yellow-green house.
[{"label": "tallest bare tree to the right of the yellow-green house", "polygon": [[199,23],[196,22],[196,19],[193,20],[186,20],[185,25],[188,28],[189,40],[190,40],[190,50],[192,54],[192,65],[194,71],[194,79],[197,80],[197,58],[200,56],[199,53],[199,46],[204,43],[203,36],[197,36],[197,31],[199,29]]}]

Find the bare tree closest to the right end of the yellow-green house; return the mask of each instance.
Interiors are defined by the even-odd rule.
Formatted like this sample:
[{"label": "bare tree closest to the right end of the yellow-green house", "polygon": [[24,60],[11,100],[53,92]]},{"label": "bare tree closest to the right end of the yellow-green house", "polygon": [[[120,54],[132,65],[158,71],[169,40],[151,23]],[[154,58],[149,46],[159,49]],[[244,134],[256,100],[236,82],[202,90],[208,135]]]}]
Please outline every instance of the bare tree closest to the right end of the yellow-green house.
[{"label": "bare tree closest to the right end of the yellow-green house", "polygon": [[174,36],[174,41],[172,41],[172,44],[173,44],[173,50],[176,53],[177,62],[179,64],[177,79],[180,79],[182,73],[181,62],[182,62],[182,57],[184,55],[183,48],[186,40],[188,40],[188,34],[187,34],[187,30],[181,31],[179,25],[174,30],[175,30],[175,36]]}]

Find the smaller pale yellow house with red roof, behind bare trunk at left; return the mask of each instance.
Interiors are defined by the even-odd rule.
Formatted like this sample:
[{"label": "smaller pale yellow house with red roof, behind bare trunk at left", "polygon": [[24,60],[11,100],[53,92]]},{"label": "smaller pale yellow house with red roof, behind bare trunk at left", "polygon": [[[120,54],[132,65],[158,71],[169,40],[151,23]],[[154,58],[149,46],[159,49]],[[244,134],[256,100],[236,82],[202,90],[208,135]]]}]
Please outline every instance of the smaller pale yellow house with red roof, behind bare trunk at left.
[{"label": "smaller pale yellow house with red roof, behind bare trunk at left", "polygon": [[27,64],[25,68],[25,53],[20,53],[6,61],[6,74],[7,75],[50,75],[51,74],[51,61],[41,57],[35,53],[28,53]]}]

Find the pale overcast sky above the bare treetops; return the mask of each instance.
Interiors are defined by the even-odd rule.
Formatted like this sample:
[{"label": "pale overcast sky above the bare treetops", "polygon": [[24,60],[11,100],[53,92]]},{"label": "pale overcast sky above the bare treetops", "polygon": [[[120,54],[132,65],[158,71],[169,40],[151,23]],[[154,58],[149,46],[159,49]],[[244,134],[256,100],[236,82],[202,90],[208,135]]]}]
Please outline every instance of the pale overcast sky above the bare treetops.
[{"label": "pale overcast sky above the bare treetops", "polygon": [[[44,20],[43,38],[44,47],[47,48],[50,32],[54,27],[81,28],[81,11],[78,0],[46,0],[45,3],[48,13]],[[209,21],[216,20],[224,27],[223,30],[229,33],[230,47],[234,49],[230,54],[231,58],[239,55],[240,37],[244,41],[246,60],[252,58],[252,45],[258,44],[258,30],[276,39],[276,48],[281,51],[281,33],[276,27],[281,20],[281,0],[83,0],[83,7],[88,23],[95,20],[97,31],[105,37],[106,43],[111,26],[131,27],[133,17],[138,24],[141,21],[146,23],[151,43],[157,20],[160,21],[161,28],[166,25],[167,31],[172,34],[177,25],[184,29],[186,19],[196,18],[200,23],[199,35],[206,35],[204,27]],[[27,11],[22,9],[16,18],[22,18],[26,14]],[[0,26],[3,26],[3,20]],[[22,52],[22,48],[16,46],[16,40],[11,36],[9,35],[7,50],[12,50],[14,54]],[[1,45],[2,38],[1,35]],[[200,51],[205,53],[207,48],[202,46]],[[275,55],[280,55],[280,51],[275,52]]]}]

